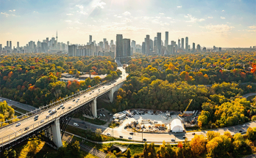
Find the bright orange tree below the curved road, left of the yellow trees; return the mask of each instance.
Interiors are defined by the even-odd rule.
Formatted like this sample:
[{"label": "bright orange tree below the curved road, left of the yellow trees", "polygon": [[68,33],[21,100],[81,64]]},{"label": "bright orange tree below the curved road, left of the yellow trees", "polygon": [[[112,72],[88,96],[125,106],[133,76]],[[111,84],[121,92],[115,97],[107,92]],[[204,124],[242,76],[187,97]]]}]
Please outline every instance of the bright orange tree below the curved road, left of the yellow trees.
[{"label": "bright orange tree below the curved road, left of the yellow trees", "polygon": [[195,157],[198,157],[205,151],[205,137],[203,135],[195,135],[190,144],[191,151]]}]

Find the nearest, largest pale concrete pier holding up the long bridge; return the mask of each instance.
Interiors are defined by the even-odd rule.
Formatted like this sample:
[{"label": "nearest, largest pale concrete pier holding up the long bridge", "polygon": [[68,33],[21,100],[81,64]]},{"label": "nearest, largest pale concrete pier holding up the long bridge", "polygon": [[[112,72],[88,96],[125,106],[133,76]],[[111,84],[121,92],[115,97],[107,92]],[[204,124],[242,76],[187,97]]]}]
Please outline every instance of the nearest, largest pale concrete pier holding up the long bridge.
[{"label": "nearest, largest pale concrete pier holding up the long bridge", "polygon": [[63,142],[61,141],[61,133],[60,133],[60,119],[55,119],[54,124],[51,125],[52,132],[52,141],[60,148],[63,146]]}]

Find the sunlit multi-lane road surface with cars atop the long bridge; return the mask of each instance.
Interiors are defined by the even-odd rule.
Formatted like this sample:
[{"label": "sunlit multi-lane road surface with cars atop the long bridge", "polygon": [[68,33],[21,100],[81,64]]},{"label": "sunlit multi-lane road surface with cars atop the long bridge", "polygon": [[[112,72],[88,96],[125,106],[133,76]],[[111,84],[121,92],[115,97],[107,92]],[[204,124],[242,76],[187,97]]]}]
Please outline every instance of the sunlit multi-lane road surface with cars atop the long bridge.
[{"label": "sunlit multi-lane road surface with cars atop the long bridge", "polygon": [[[60,108],[60,110],[57,110],[57,108],[60,107],[60,105],[57,105],[54,106],[54,108],[49,108],[38,113],[39,117],[37,121],[34,121],[34,115],[29,116],[29,118],[22,119],[21,121],[18,121],[15,124],[1,127],[0,146],[4,143],[8,143],[11,140],[15,140],[16,138],[23,137],[27,133],[32,132],[34,129],[41,127],[43,124],[48,124],[49,122],[54,121],[56,118],[65,115],[65,113],[68,113],[69,110],[78,108],[85,102],[90,102],[95,97],[98,97],[112,89],[118,83],[122,83],[124,80],[126,80],[127,73],[125,73],[125,70],[122,67],[118,67],[118,69],[120,69],[123,73],[121,75],[121,78],[116,79],[114,83],[106,83],[104,85],[99,86],[97,89],[88,91],[85,94],[80,94],[77,97],[74,97],[73,99],[69,99],[68,101],[63,103],[64,109]],[[53,115],[49,116],[49,110],[54,109],[57,110],[57,113],[54,113]],[[46,116],[49,117],[46,119]],[[18,123],[21,123],[21,125],[16,127],[15,125]],[[26,127],[29,127],[29,129],[25,130]]]}]

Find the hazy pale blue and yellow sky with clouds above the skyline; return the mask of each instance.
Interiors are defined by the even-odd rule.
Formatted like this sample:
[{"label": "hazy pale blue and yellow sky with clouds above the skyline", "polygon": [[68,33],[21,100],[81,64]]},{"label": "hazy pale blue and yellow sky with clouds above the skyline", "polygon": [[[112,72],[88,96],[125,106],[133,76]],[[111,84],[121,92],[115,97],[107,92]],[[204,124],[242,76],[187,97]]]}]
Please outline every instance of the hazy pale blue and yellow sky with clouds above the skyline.
[{"label": "hazy pale blue and yellow sky with clouds above the skyline", "polygon": [[256,45],[255,0],[0,0],[0,44],[42,41],[98,43],[116,34],[143,42],[169,31],[171,40],[188,37],[205,47]]}]

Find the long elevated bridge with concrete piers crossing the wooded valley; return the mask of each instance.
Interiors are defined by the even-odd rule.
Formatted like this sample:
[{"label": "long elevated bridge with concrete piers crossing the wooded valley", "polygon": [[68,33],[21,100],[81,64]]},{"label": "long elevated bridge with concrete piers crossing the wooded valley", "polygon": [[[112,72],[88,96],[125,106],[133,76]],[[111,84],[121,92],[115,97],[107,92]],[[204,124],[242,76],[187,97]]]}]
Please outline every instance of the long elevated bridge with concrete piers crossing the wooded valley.
[{"label": "long elevated bridge with concrete piers crossing the wooded valley", "polygon": [[[97,97],[107,94],[110,102],[113,102],[114,92],[121,88],[127,77],[127,73],[122,67],[118,67],[118,69],[122,72],[121,78],[113,82],[102,83],[99,86],[94,86],[93,89],[79,91],[79,93],[66,97],[57,103],[32,111],[32,116],[27,116],[12,124],[0,127],[0,152],[9,148],[15,148],[18,144],[28,140],[43,140],[53,148],[63,146],[61,138],[74,114],[82,111],[85,115],[96,118]],[[62,104],[63,107],[60,108]],[[60,109],[57,110],[57,108]],[[49,110],[54,109],[56,112],[50,114]],[[34,120],[35,116],[38,116],[36,121]],[[12,121],[10,120],[10,122]],[[21,125],[16,126],[18,123]]]}]

